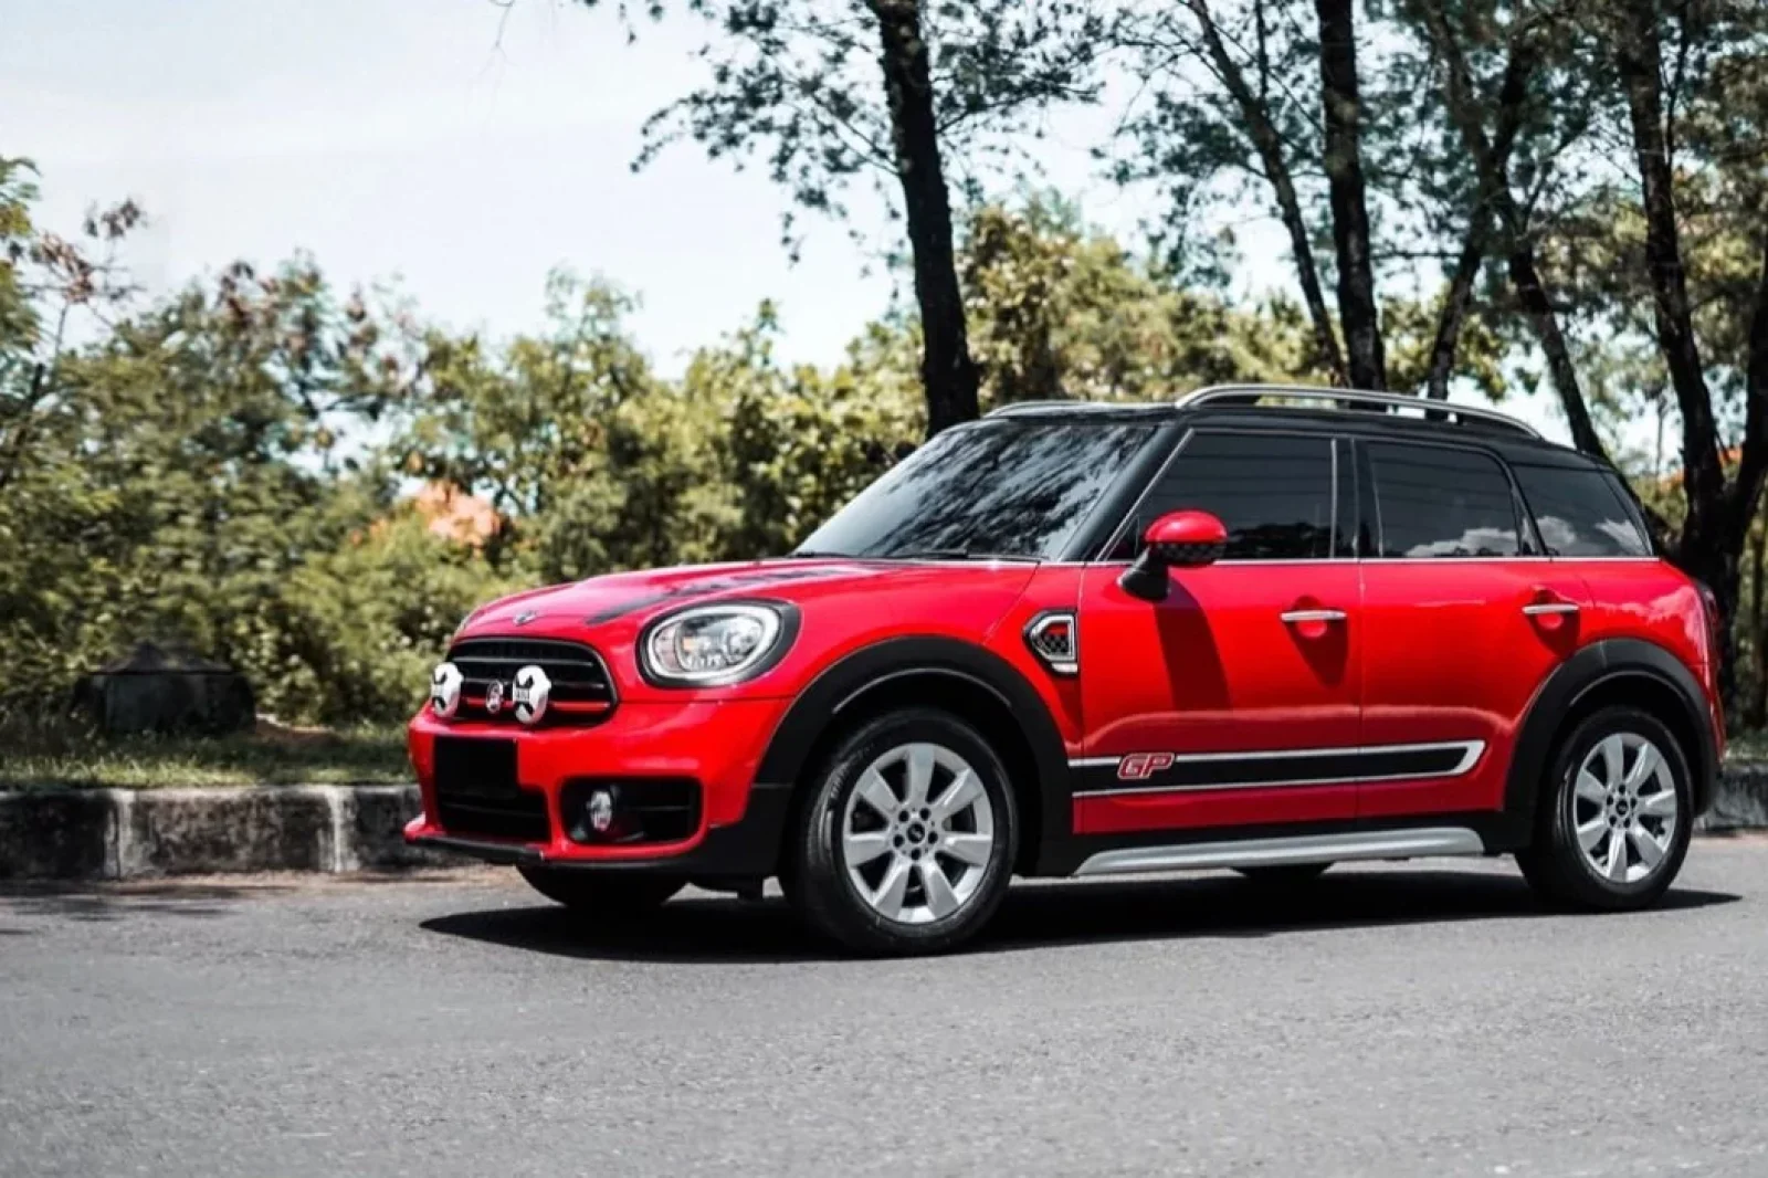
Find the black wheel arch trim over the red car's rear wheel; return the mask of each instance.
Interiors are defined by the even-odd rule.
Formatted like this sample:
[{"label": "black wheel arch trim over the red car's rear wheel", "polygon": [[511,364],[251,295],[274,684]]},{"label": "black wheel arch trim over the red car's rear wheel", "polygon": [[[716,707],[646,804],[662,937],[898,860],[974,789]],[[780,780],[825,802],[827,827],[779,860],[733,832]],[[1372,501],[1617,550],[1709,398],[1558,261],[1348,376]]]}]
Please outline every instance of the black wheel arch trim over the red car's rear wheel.
[{"label": "black wheel arch trim over the red car's rear wheel", "polygon": [[1637,708],[1671,731],[1694,776],[1694,814],[1706,808],[1718,750],[1701,685],[1681,660],[1653,642],[1605,639],[1547,676],[1524,715],[1505,782],[1505,814],[1519,845],[1535,830],[1540,785],[1559,743],[1586,716],[1609,706]]}]

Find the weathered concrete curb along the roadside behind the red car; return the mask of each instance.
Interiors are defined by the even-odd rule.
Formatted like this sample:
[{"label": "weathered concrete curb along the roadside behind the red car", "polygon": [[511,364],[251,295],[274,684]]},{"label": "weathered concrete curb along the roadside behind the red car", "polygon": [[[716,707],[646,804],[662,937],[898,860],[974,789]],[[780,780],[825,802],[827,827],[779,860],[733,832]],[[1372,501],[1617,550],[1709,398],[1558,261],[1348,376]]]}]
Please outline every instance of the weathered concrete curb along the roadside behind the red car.
[{"label": "weathered concrete curb along the roadside behind the red car", "polygon": [[[405,845],[415,785],[0,792],[0,879],[447,867]],[[1768,830],[1768,762],[1726,768],[1699,831]]]}]

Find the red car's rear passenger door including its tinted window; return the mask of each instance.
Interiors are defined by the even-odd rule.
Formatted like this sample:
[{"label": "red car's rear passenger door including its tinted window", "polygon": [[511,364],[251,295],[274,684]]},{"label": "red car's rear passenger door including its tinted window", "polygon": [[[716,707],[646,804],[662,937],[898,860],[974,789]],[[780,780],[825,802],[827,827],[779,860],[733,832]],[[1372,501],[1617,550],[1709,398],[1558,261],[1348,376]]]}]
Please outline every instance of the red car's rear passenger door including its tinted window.
[{"label": "red car's rear passenger door including its tinted window", "polygon": [[1496,455],[1393,440],[1358,451],[1372,522],[1358,814],[1499,808],[1522,715],[1577,649],[1588,589],[1540,552]]}]

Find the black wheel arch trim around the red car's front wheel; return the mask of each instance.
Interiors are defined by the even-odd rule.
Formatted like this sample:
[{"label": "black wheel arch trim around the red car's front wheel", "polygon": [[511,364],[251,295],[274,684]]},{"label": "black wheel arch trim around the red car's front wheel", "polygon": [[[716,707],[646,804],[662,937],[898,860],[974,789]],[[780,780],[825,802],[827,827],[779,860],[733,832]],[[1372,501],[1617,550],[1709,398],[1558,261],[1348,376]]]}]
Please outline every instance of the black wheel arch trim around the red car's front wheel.
[{"label": "black wheel arch trim around the red car's front wheel", "polygon": [[1034,872],[1047,845],[1070,838],[1068,752],[1048,706],[1011,663],[958,639],[888,639],[827,667],[774,729],[757,784],[790,789],[796,815],[808,773],[836,741],[900,708],[949,711],[994,746],[1018,803],[1015,872]]}]

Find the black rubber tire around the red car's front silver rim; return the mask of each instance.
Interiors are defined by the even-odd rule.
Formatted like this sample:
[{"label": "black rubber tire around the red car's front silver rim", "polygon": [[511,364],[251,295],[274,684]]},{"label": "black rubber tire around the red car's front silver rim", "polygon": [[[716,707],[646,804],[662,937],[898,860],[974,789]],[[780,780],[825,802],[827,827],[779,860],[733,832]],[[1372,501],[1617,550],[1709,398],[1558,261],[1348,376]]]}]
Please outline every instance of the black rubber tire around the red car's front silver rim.
[{"label": "black rubber tire around the red car's front silver rim", "polygon": [[[985,865],[965,865],[948,858],[944,851],[928,851],[928,863],[948,879],[956,872],[958,886],[969,890],[955,911],[926,918],[925,923],[893,920],[866,900],[849,872],[843,838],[850,819],[849,801],[859,789],[861,778],[880,757],[893,757],[911,745],[934,745],[962,759],[981,785],[992,817],[992,837],[972,844],[987,847]],[[903,784],[891,778],[893,771],[893,768],[886,768],[884,775],[891,789],[900,794]],[[949,769],[935,769],[935,778],[941,773],[949,773]],[[928,789],[928,799],[937,803],[955,780],[955,776],[935,780]],[[792,907],[822,936],[859,953],[939,953],[976,936],[1001,907],[1018,851],[1018,808],[1001,757],[964,720],[932,708],[905,708],[877,716],[840,738],[813,776],[804,782],[804,789],[808,792],[785,847],[787,867],[781,872],[781,886]],[[852,817],[859,821],[861,814],[866,815],[866,821],[888,822],[888,819],[879,819],[873,807],[856,801]],[[903,810],[903,814],[911,812]],[[962,821],[962,812],[958,821]],[[909,828],[912,828],[912,815],[909,826],[886,824],[879,833],[889,838],[893,830]],[[937,840],[939,826],[930,830]],[[974,835],[974,831],[948,830],[948,845],[953,833]],[[902,851],[902,856],[905,854],[909,854],[907,849]],[[896,870],[900,858],[896,851],[884,851],[879,858],[882,867],[872,868],[861,863],[861,870]],[[919,883],[930,876],[925,874],[926,868],[921,867],[919,858],[912,865],[902,860],[902,870],[909,881],[905,895],[912,899],[914,890],[919,888],[921,907],[932,913],[932,895]],[[976,872],[974,879],[971,879],[971,872]],[[879,886],[882,886],[882,879]],[[905,900],[902,907],[907,913],[911,904]]]}]

